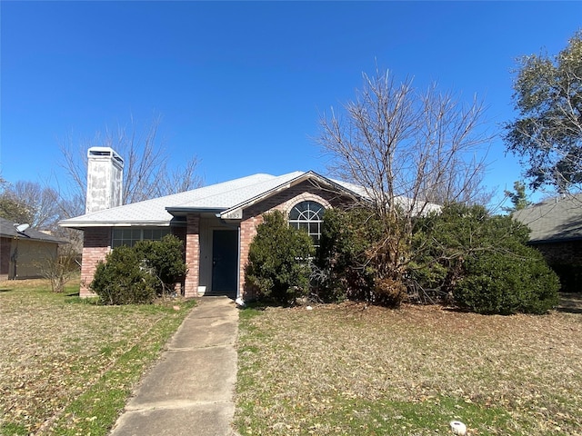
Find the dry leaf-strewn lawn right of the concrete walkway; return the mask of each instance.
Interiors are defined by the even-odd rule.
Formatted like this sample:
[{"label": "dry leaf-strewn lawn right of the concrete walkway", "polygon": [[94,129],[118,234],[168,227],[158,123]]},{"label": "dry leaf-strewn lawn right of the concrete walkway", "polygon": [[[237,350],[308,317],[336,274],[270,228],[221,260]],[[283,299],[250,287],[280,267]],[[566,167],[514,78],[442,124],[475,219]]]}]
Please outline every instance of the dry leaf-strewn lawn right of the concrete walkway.
[{"label": "dry leaf-strewn lawn right of the concrete walkway", "polygon": [[582,315],[246,309],[242,435],[582,434]]}]

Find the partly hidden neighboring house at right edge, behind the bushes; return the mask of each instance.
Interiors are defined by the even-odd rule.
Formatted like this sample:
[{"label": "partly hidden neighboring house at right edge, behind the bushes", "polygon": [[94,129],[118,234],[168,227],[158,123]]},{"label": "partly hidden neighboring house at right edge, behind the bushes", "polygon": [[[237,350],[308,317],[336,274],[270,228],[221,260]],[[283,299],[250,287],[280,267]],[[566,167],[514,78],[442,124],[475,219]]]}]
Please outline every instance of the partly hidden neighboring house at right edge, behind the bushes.
[{"label": "partly hidden neighboring house at right edge, behind the bushes", "polygon": [[563,292],[582,292],[582,193],[560,196],[514,212],[560,277]]}]

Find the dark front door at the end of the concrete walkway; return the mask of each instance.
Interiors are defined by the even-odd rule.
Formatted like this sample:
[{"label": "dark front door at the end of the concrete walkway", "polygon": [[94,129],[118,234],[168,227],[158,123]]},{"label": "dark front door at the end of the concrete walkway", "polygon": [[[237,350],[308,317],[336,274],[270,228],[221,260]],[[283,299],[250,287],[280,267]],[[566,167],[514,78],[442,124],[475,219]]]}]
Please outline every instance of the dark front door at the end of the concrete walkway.
[{"label": "dark front door at the end of the concrete walkway", "polygon": [[212,295],[236,298],[238,282],[238,231],[215,230],[212,234]]}]

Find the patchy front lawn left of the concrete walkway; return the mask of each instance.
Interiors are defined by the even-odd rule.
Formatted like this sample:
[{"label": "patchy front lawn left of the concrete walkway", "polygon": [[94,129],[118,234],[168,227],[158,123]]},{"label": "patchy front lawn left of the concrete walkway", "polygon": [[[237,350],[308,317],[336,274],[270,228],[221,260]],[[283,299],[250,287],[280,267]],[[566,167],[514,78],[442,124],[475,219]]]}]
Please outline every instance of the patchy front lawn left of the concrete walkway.
[{"label": "patchy front lawn left of the concrete walkway", "polygon": [[0,434],[105,435],[194,302],[98,306],[0,282]]}]

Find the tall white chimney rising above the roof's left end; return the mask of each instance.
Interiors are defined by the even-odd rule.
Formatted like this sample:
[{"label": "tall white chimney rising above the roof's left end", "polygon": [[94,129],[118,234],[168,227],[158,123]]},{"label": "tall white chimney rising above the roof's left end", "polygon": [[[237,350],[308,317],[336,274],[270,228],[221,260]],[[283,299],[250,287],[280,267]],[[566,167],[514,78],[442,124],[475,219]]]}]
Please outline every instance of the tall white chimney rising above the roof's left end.
[{"label": "tall white chimney rising above the roof's left end", "polygon": [[109,147],[87,151],[87,199],[85,213],[121,206],[124,160]]}]

